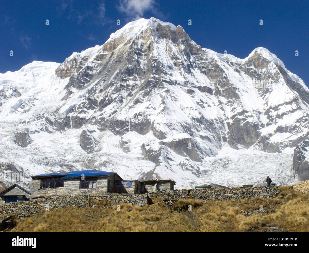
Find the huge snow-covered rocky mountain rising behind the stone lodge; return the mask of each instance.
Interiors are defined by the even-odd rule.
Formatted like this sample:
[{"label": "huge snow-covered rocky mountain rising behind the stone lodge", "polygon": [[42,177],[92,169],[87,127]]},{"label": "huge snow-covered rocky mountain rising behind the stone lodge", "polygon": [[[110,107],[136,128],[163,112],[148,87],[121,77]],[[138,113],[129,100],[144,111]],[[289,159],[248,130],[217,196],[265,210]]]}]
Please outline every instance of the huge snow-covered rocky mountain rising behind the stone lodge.
[{"label": "huge snow-covered rocky mountain rising behind the stone lodge", "polygon": [[0,173],[290,184],[308,179],[307,149],[294,157],[308,119],[309,89],[267,49],[239,59],[201,48],[181,26],[139,19],[62,64],[0,74]]}]

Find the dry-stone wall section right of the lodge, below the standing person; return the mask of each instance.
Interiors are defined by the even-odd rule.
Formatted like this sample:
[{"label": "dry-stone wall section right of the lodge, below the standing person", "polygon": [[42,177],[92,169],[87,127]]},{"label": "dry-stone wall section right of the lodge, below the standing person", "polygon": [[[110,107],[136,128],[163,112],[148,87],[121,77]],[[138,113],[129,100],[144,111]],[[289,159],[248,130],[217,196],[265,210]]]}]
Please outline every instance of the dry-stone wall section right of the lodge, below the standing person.
[{"label": "dry-stone wall section right of the lodge, below the standing person", "polygon": [[174,190],[151,192],[149,197],[163,200],[177,201],[179,199],[201,199],[201,200],[231,200],[246,198],[275,198],[280,190],[277,186],[257,186],[257,187],[232,187],[227,189],[200,188],[194,190]]}]

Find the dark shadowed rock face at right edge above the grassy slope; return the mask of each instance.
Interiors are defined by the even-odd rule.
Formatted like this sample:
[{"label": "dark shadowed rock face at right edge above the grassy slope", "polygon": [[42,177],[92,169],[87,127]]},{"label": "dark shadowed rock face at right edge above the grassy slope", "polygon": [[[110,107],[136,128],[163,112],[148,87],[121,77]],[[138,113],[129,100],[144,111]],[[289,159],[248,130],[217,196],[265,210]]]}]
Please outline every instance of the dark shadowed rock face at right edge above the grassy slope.
[{"label": "dark shadowed rock face at right edge above the grassy slope", "polygon": [[302,141],[294,149],[293,169],[295,174],[298,174],[298,179],[302,181],[309,179],[308,154],[309,154],[309,139]]}]

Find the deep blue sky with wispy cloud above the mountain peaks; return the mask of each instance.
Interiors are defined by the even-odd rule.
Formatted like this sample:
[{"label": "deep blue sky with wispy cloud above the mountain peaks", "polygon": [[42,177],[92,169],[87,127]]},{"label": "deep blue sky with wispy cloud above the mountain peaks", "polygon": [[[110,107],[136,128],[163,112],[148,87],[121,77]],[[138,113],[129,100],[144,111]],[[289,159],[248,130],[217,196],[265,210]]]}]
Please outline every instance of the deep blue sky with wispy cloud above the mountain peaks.
[{"label": "deep blue sky with wispy cloud above the mountain peaks", "polygon": [[103,45],[129,21],[156,17],[181,25],[198,45],[218,53],[245,58],[265,47],[309,86],[308,13],[308,1],[2,0],[0,73],[34,60],[61,63],[73,52]]}]

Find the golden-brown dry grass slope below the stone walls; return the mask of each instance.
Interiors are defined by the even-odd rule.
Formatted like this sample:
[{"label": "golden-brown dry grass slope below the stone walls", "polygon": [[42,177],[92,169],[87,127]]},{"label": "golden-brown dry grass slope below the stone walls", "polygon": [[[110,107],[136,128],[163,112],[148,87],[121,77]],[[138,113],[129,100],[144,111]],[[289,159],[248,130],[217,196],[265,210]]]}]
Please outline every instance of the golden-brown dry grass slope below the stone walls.
[{"label": "golden-brown dry grass slope below the stone walls", "polygon": [[[12,231],[261,231],[278,226],[286,231],[309,231],[309,194],[281,187],[275,199],[229,201],[180,200],[175,210],[160,199],[140,208],[121,204],[121,210],[95,203],[101,208],[62,208],[39,212],[17,220]],[[192,211],[188,212],[188,205]],[[257,211],[263,205],[268,215],[243,216],[242,210]]]}]

